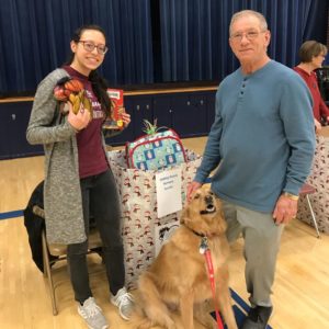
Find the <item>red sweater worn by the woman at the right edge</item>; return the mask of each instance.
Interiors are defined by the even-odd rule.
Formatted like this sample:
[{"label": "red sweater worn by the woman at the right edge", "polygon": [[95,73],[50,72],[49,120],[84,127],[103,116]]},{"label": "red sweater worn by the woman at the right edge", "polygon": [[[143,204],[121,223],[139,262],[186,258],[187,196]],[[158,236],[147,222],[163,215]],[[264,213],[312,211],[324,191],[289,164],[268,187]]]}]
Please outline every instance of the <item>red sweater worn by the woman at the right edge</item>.
[{"label": "red sweater worn by the woman at the right edge", "polygon": [[314,117],[320,122],[321,117],[324,117],[326,121],[329,122],[329,109],[326,105],[325,101],[321,98],[321,93],[318,87],[318,80],[315,72],[311,72],[310,75],[299,67],[294,67],[294,70],[303,78],[303,80],[308,86],[308,89],[313,95],[313,113]]}]

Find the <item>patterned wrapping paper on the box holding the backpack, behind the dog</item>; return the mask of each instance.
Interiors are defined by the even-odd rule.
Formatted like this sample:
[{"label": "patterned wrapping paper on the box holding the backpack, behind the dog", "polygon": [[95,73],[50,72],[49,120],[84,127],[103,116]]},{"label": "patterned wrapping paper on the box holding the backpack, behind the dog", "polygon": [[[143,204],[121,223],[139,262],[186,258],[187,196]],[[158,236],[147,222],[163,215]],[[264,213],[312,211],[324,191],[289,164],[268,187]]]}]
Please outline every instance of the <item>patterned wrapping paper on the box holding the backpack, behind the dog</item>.
[{"label": "patterned wrapping paper on the box holding the backpack, behind the dog", "polygon": [[[183,202],[186,186],[194,179],[202,159],[191,150],[186,149],[185,154],[188,162],[179,164],[182,169]],[[107,157],[122,202],[126,285],[128,288],[135,288],[139,274],[154,260],[156,247],[162,243],[162,235],[164,236],[171,227],[178,225],[180,212],[162,218],[157,217],[156,172],[158,171],[128,169],[124,150],[110,151]]]}]

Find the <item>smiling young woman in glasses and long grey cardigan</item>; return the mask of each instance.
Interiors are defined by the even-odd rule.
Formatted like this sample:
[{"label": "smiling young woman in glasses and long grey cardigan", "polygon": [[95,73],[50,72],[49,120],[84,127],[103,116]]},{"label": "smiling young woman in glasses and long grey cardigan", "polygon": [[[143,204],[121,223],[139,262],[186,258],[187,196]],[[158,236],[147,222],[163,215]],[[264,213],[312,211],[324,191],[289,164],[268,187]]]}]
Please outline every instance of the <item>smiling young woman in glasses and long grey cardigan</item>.
[{"label": "smiling young woman in glasses and long grey cardigan", "polygon": [[[134,306],[125,288],[124,248],[121,235],[121,205],[115,180],[106,158],[102,125],[111,115],[106,83],[97,69],[107,52],[104,31],[98,25],[78,29],[70,42],[68,64],[50,72],[37,87],[26,138],[45,150],[44,208],[47,239],[68,245],[68,266],[78,313],[89,328],[109,327],[92,296],[87,268],[89,219],[92,215],[103,242],[102,253],[111,302],[128,319]],[[58,81],[72,78],[83,84],[92,106],[70,102],[65,115],[54,97]],[[131,122],[123,114],[124,126]]]}]

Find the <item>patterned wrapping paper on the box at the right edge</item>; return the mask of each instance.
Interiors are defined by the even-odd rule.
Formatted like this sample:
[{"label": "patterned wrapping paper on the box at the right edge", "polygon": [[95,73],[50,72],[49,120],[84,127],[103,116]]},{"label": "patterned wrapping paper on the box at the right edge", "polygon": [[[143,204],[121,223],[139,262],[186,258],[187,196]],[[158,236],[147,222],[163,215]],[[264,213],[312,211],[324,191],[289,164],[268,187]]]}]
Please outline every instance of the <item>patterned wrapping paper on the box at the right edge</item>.
[{"label": "patterned wrapping paper on the box at the right edge", "polygon": [[[317,192],[309,195],[319,230],[329,232],[329,138],[317,136],[317,148],[307,183]],[[297,218],[314,226],[305,196],[300,196]]]}]

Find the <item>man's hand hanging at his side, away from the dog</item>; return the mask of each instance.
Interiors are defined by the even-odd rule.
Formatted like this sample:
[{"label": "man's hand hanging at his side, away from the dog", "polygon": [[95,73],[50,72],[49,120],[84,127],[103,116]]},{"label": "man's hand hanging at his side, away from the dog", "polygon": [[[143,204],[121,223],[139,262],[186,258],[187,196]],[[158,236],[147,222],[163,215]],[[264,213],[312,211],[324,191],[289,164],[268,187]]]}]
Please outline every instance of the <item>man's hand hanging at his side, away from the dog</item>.
[{"label": "man's hand hanging at his side, away from the dog", "polygon": [[297,214],[298,200],[292,200],[286,195],[280,195],[273,212],[273,219],[276,225],[287,224]]}]

